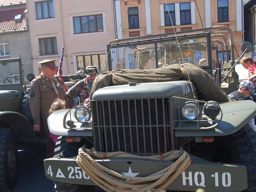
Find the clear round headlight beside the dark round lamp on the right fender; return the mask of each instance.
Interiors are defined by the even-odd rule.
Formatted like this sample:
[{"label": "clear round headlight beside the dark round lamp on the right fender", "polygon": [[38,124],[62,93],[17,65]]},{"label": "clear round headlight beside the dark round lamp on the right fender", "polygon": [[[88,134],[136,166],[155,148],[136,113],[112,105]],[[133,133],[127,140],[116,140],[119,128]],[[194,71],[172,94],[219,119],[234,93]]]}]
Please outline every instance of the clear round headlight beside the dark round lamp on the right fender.
[{"label": "clear round headlight beside the dark round lamp on the right fender", "polygon": [[195,120],[200,116],[201,109],[194,101],[187,101],[184,107],[181,108],[181,115],[186,120]]}]

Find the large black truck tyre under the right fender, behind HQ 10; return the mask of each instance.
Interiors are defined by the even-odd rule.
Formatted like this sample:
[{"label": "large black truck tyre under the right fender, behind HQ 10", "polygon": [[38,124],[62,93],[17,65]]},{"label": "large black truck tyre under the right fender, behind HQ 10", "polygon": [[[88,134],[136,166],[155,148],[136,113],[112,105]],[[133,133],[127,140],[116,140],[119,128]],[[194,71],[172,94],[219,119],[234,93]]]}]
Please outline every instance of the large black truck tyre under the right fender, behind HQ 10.
[{"label": "large black truck tyre under the right fender, behind HQ 10", "polygon": [[[247,168],[248,188],[244,192],[256,191],[256,132],[245,126],[226,138],[218,150],[216,162],[240,164]],[[220,145],[220,143],[219,143]]]}]

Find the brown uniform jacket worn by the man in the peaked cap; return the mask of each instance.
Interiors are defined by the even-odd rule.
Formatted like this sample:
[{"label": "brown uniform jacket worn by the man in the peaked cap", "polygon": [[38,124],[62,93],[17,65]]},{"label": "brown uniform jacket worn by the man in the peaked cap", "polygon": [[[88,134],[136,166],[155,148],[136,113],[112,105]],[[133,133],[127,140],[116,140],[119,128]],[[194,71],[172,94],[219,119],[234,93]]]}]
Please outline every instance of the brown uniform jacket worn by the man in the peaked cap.
[{"label": "brown uniform jacket worn by the man in the peaked cap", "polygon": [[31,82],[29,106],[31,115],[34,119],[34,124],[40,124],[40,113],[42,115],[48,115],[53,100],[60,98],[66,101],[66,108],[68,107],[68,99],[66,97],[61,79],[55,75],[52,77],[53,82],[56,84],[59,91],[57,95],[52,87],[50,79],[45,78],[43,73],[37,76]]}]

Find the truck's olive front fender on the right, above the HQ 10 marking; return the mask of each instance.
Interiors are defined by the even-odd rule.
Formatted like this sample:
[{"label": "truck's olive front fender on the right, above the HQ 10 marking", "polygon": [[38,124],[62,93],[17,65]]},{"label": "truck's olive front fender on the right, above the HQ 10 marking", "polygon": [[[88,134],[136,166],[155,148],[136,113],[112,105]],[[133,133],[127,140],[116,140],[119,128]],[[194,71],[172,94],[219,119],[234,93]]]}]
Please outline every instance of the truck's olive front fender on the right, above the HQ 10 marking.
[{"label": "truck's olive front fender on the right, above the HQ 10 marking", "polygon": [[[205,137],[205,136],[224,136],[239,131],[253,117],[256,116],[256,103],[252,100],[230,101],[220,103],[222,110],[222,120],[213,129],[198,129],[197,123],[186,122],[186,127],[195,126],[194,130],[175,129],[176,137]],[[217,116],[220,118],[220,115]],[[177,125],[179,127],[179,124]]]}]

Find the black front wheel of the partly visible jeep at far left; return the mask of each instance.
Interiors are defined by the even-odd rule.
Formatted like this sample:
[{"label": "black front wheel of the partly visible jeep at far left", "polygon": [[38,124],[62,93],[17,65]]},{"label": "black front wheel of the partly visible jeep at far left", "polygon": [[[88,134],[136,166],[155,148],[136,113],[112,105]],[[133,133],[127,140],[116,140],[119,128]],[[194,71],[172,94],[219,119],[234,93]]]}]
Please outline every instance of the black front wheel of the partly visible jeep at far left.
[{"label": "black front wheel of the partly visible jeep at far left", "polygon": [[17,179],[18,148],[15,133],[8,128],[0,129],[0,191],[10,192]]}]

